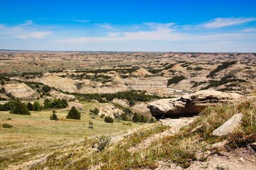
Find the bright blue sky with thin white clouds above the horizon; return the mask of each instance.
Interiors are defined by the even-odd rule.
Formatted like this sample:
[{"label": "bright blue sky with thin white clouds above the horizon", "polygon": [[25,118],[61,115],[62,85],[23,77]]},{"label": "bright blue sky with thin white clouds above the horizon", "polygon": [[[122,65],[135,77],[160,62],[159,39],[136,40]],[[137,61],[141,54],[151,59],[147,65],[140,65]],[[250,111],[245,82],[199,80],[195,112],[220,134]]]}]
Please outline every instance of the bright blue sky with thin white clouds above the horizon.
[{"label": "bright blue sky with thin white clouds above the horizon", "polygon": [[256,0],[0,0],[0,49],[256,52]]}]

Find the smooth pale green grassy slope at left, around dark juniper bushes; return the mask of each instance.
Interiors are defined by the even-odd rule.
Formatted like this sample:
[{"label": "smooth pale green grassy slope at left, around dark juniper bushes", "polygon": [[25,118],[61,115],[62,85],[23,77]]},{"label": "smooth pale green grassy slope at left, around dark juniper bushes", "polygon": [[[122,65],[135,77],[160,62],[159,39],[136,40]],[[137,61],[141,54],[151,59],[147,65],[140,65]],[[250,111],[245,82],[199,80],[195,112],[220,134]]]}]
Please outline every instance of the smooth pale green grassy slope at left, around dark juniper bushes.
[{"label": "smooth pale green grassy slope at left, around dark juniper bushes", "polygon": [[[14,115],[0,112],[0,125],[9,123],[14,128],[0,128],[0,169],[9,164],[31,160],[33,156],[52,152],[55,147],[83,142],[85,137],[111,135],[118,132],[142,128],[149,124],[132,126],[122,122],[105,123],[102,118],[92,119],[89,110],[106,103],[82,102],[81,120],[67,120],[68,111],[57,113],[59,120],[49,120],[51,111],[31,112],[31,115]],[[4,120],[11,118],[11,120]],[[93,129],[88,128],[89,121]]]}]

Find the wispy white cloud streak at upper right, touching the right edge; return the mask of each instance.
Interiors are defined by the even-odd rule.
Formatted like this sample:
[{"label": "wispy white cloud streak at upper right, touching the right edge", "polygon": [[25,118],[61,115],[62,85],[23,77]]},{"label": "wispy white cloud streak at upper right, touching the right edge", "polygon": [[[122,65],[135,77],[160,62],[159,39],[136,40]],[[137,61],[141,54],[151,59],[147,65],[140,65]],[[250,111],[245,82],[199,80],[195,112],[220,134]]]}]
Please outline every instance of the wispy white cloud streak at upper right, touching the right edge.
[{"label": "wispy white cloud streak at upper right, touching the right edge", "polygon": [[208,29],[223,28],[227,26],[237,26],[242,23],[256,21],[256,18],[215,18],[208,23],[204,23],[203,27]]}]

